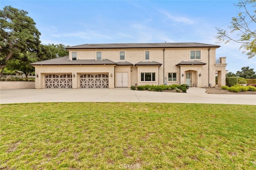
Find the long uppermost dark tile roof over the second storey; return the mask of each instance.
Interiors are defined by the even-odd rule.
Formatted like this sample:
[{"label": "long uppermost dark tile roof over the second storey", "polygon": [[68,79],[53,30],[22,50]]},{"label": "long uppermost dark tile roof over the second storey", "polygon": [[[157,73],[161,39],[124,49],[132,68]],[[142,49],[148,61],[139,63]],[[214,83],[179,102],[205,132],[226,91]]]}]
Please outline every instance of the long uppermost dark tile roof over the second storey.
[{"label": "long uppermost dark tile roof over the second storey", "polygon": [[113,43],[113,44],[84,44],[68,47],[66,49],[127,49],[127,48],[193,48],[193,47],[215,47],[204,43]]}]

